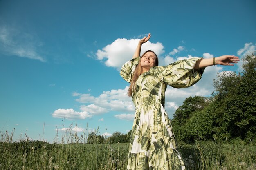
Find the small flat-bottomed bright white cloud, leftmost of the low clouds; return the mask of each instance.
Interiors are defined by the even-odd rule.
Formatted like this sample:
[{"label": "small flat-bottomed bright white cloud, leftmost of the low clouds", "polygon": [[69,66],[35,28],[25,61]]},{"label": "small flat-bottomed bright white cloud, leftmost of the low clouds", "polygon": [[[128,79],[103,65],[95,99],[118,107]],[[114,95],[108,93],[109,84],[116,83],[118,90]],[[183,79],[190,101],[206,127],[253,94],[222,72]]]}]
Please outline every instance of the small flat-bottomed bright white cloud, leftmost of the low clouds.
[{"label": "small flat-bottomed bright white cloud, leftmost of the low clouds", "polygon": [[89,113],[83,111],[83,112],[77,112],[74,109],[58,109],[55,110],[54,113],[52,113],[52,117],[56,118],[66,118],[69,120],[72,119],[86,119],[92,117]]}]

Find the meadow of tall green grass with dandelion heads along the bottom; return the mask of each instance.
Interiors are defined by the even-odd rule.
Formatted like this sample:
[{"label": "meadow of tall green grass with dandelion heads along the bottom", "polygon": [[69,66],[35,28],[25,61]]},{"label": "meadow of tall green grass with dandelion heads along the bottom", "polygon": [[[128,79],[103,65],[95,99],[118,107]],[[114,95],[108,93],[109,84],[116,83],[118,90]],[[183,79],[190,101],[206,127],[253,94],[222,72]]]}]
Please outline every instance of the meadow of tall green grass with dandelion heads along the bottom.
[{"label": "meadow of tall green grass with dandelion heads along the bottom", "polygon": [[[64,142],[22,140],[1,132],[0,170],[126,170],[128,143],[86,144],[85,137],[65,134]],[[64,138],[61,137],[61,141]],[[179,144],[188,170],[256,170],[256,145],[200,141]]]}]

